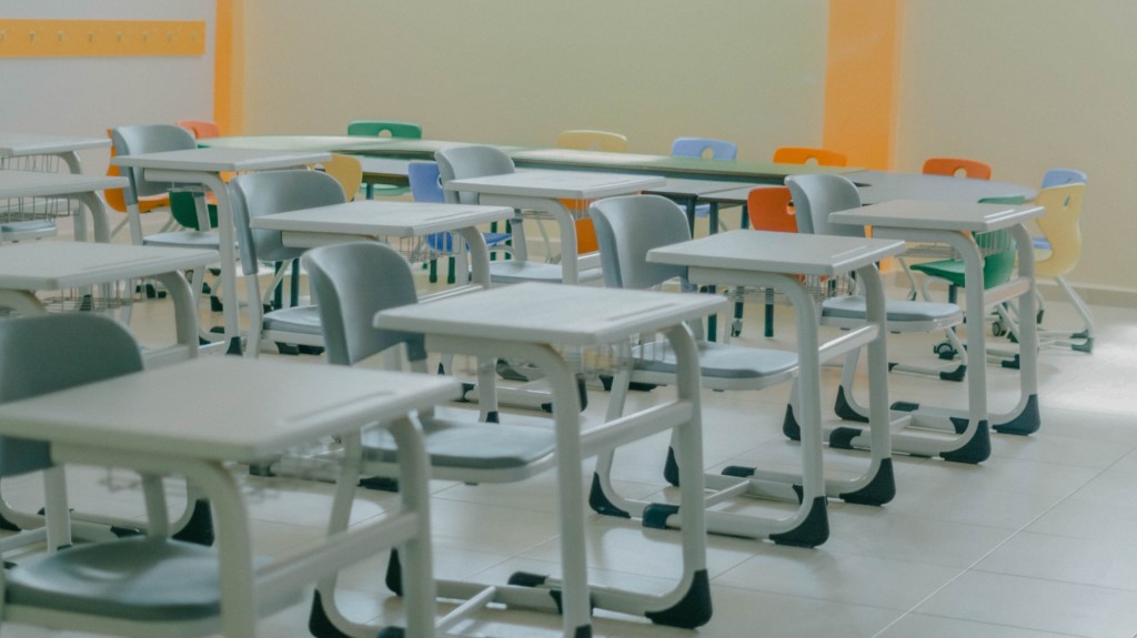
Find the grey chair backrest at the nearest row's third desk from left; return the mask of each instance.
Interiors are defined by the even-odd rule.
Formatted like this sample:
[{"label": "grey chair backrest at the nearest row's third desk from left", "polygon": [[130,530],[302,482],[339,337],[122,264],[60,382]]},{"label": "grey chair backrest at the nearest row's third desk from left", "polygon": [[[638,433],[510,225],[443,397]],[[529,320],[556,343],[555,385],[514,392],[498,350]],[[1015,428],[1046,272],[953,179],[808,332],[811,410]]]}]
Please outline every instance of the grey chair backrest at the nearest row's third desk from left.
[{"label": "grey chair backrest at the nearest row's third desk from left", "polygon": [[609,288],[650,288],[674,277],[686,279],[687,268],[650,263],[654,247],[691,238],[687,215],[659,195],[626,195],[592,202],[604,285]]}]

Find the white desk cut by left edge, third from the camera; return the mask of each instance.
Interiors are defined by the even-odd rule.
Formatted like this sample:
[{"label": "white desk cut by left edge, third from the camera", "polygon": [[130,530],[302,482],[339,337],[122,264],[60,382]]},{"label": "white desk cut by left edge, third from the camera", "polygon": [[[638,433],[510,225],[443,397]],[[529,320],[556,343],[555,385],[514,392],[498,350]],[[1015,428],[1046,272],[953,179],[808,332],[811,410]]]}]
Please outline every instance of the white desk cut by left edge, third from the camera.
[{"label": "white desk cut by left edge, third from the camera", "polygon": [[[96,242],[110,241],[107,209],[99,191],[122,188],[128,184],[125,177],[102,175],[69,175],[66,173],[39,173],[34,170],[0,170],[0,201],[20,198],[70,198],[77,199],[91,216]],[[82,217],[76,218],[75,237],[86,235]]]}]

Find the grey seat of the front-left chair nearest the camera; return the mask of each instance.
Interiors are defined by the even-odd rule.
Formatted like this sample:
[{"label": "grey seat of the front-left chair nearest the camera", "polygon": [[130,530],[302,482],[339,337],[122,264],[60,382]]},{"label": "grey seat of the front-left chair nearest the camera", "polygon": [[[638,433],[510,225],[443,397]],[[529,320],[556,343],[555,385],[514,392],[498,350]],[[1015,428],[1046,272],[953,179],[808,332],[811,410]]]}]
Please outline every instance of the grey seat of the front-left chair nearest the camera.
[{"label": "grey seat of the front-left chair nearest the camera", "polygon": [[11,569],[9,605],[121,619],[196,620],[221,613],[217,553],[131,538],[44,554]]}]

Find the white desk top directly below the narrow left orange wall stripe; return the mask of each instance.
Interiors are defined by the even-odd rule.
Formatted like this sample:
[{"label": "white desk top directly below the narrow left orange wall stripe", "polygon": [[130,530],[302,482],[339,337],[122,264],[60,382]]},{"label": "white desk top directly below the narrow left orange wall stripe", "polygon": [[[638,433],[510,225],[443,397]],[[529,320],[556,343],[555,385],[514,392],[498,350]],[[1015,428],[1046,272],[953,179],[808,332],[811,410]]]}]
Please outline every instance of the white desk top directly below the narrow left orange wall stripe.
[{"label": "white desk top directly below the narrow left orange wall stripe", "polygon": [[186,149],[111,158],[115,166],[159,170],[244,173],[318,163],[332,159],[325,151],[273,151],[263,149]]}]

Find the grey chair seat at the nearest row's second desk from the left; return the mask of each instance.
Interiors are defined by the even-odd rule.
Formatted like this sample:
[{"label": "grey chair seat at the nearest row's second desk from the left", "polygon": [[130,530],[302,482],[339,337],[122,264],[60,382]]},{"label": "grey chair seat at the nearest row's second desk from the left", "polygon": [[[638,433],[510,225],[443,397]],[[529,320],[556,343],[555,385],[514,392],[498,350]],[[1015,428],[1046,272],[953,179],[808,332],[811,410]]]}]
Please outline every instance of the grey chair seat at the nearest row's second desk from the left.
[{"label": "grey chair seat at the nearest row's second desk from the left", "polygon": [[[550,456],[556,448],[551,427],[511,426],[423,418],[426,454],[434,468],[508,470]],[[387,430],[364,435],[364,459],[396,461],[395,438]]]}]

